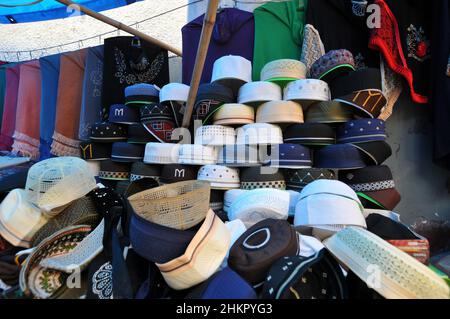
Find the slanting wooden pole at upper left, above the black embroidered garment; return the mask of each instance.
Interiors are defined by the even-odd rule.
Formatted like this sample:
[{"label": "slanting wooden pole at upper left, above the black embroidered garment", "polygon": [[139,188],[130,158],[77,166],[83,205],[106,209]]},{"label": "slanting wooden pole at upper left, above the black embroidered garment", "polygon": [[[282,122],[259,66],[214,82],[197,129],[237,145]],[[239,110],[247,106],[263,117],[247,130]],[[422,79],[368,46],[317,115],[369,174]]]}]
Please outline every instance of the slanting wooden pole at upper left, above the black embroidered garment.
[{"label": "slanting wooden pole at upper left, above the black embroidered garment", "polygon": [[171,45],[169,45],[167,43],[164,43],[164,42],[162,42],[162,41],[160,41],[158,39],[155,39],[155,38],[153,38],[153,37],[151,37],[151,36],[149,36],[149,35],[147,35],[147,34],[145,34],[143,32],[140,32],[140,31],[138,31],[136,29],[133,29],[133,28],[131,28],[131,27],[129,27],[129,26],[127,26],[127,25],[117,21],[117,20],[111,19],[111,18],[109,18],[109,17],[107,17],[107,16],[105,16],[103,14],[95,12],[95,11],[93,11],[93,10],[91,10],[89,8],[86,8],[85,6],[82,6],[82,5],[80,5],[80,4],[76,3],[76,2],[73,2],[71,0],[56,0],[56,1],[66,5],[66,6],[70,6],[73,9],[76,9],[76,10],[78,10],[80,12],[83,12],[84,14],[86,14],[86,15],[94,18],[94,19],[97,19],[99,21],[102,21],[102,22],[104,22],[106,24],[109,24],[109,25],[111,25],[111,26],[113,26],[113,27],[115,27],[115,28],[117,28],[119,30],[123,30],[125,32],[128,32],[129,34],[135,35],[135,36],[139,37],[140,39],[142,39],[144,41],[153,43],[153,44],[155,44],[155,45],[157,45],[157,46],[159,46],[159,47],[161,47],[163,49],[166,49],[166,50],[168,50],[168,51],[170,51],[170,52],[172,52],[172,53],[174,53],[174,54],[176,54],[178,56],[181,56],[181,50],[179,50],[179,49],[177,49],[177,48],[175,48],[175,47],[173,47],[173,46],[171,46]]}]

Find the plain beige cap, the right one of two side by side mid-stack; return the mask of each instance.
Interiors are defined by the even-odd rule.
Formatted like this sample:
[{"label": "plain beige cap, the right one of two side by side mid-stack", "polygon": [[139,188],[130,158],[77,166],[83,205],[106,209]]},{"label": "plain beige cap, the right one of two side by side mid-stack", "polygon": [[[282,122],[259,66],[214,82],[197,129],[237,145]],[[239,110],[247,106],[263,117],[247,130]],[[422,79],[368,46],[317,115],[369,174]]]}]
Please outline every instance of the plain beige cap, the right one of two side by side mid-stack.
[{"label": "plain beige cap, the right one of two side by side mid-stack", "polygon": [[261,104],[256,110],[257,123],[303,123],[300,104],[292,101],[271,101]]}]

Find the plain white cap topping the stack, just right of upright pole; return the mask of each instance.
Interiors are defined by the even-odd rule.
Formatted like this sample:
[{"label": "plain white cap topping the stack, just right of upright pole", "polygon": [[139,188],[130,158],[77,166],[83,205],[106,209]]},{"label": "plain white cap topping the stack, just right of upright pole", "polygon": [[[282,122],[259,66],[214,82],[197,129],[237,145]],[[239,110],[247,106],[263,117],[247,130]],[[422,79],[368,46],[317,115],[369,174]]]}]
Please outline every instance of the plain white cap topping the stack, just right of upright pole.
[{"label": "plain white cap topping the stack, just right of upright pole", "polygon": [[226,55],[214,62],[211,82],[225,79],[252,81],[252,63],[237,55]]}]

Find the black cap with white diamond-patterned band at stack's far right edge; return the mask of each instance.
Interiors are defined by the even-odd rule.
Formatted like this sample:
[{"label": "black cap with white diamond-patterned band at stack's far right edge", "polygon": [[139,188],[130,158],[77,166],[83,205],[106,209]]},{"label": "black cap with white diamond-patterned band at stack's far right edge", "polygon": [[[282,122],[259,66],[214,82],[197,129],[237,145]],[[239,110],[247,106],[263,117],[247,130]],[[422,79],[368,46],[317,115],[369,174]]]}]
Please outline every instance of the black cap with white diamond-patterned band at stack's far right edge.
[{"label": "black cap with white diamond-patterned band at stack's far right edge", "polygon": [[341,182],[350,186],[355,192],[395,188],[391,170],[386,165],[339,171],[338,178]]}]

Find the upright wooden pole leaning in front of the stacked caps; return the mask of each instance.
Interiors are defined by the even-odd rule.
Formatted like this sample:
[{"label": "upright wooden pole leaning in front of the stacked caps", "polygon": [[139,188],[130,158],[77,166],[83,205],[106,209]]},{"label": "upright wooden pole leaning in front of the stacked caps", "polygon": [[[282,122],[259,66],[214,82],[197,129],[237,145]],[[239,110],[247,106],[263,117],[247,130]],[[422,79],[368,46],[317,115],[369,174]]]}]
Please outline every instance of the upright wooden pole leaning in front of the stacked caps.
[{"label": "upright wooden pole leaning in front of the stacked caps", "polygon": [[216,23],[216,13],[217,7],[219,6],[219,1],[220,0],[209,0],[205,18],[203,19],[202,33],[200,35],[200,41],[197,48],[197,56],[195,58],[194,71],[191,78],[191,87],[186,102],[185,113],[183,116],[182,127],[184,128],[188,128],[191,122],[192,111],[194,110],[195,98],[197,96],[200,79],[202,77],[206,54],[208,53],[211,34],[214,28],[214,23]]}]

